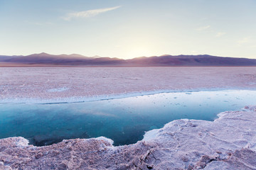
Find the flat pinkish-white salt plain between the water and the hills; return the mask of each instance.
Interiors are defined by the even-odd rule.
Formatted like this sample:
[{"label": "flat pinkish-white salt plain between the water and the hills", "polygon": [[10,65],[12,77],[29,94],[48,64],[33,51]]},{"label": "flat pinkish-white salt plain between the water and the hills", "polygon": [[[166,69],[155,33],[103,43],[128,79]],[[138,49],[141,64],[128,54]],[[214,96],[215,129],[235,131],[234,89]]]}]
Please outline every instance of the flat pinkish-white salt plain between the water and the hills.
[{"label": "flat pinkish-white salt plain between the water and the hills", "polygon": [[256,89],[256,67],[0,67],[0,100]]}]

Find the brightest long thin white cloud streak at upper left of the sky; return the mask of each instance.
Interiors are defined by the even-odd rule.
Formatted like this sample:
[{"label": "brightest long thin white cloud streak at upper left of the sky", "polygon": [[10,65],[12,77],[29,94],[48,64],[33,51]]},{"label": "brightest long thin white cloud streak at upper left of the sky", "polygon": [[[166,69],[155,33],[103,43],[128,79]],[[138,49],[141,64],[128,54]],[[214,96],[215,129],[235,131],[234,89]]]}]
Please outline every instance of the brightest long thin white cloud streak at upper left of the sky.
[{"label": "brightest long thin white cloud streak at upper left of the sky", "polygon": [[114,9],[120,8],[121,6],[114,6],[111,8],[99,8],[99,9],[92,9],[88,11],[79,11],[79,12],[73,12],[73,13],[68,13],[66,17],[63,19],[66,21],[70,21],[73,18],[90,18],[92,16],[97,16],[100,13],[105,13],[107,11],[112,11]]}]

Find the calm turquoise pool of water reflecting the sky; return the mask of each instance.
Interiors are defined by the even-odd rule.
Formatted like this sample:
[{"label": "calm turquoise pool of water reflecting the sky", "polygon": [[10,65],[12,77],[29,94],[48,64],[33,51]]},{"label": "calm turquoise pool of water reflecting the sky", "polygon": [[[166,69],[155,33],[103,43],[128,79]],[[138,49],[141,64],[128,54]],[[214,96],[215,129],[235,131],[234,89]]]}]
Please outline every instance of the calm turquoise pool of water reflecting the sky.
[{"label": "calm turquoise pool of water reflecting the sky", "polygon": [[198,91],[82,103],[0,103],[0,138],[22,136],[36,146],[105,136],[114,145],[142,140],[171,120],[214,120],[223,111],[256,105],[256,91]]}]

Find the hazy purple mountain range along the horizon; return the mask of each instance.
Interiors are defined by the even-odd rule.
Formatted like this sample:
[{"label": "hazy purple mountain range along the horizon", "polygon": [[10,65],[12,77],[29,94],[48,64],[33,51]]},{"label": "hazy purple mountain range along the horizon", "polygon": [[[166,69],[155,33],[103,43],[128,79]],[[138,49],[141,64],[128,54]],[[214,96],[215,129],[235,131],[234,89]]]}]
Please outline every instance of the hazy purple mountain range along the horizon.
[{"label": "hazy purple mountain range along the horizon", "polygon": [[85,57],[82,55],[49,55],[46,53],[27,56],[0,55],[0,62],[14,64],[50,64],[85,66],[256,66],[255,59],[217,57],[211,55],[162,55],[137,57],[129,60],[110,57]]}]

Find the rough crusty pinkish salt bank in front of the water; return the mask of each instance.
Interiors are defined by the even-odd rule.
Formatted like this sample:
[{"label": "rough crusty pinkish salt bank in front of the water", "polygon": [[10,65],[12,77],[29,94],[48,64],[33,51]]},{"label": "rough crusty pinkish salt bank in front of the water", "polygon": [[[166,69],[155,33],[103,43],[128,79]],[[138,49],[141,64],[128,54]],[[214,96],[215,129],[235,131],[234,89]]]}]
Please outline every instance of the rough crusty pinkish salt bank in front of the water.
[{"label": "rough crusty pinkish salt bank in front of the water", "polygon": [[256,169],[256,106],[218,116],[174,120],[119,147],[105,137],[44,147],[9,137],[0,140],[0,169]]}]

